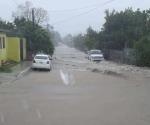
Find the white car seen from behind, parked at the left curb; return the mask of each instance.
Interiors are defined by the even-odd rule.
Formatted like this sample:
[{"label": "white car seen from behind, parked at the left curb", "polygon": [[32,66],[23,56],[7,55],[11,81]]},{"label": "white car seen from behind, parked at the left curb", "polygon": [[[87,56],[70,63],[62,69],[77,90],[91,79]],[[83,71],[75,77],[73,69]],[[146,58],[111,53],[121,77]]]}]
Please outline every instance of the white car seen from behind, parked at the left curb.
[{"label": "white car seen from behind, parked at the left curb", "polygon": [[51,60],[49,55],[37,54],[32,63],[32,69],[47,69],[51,70]]}]

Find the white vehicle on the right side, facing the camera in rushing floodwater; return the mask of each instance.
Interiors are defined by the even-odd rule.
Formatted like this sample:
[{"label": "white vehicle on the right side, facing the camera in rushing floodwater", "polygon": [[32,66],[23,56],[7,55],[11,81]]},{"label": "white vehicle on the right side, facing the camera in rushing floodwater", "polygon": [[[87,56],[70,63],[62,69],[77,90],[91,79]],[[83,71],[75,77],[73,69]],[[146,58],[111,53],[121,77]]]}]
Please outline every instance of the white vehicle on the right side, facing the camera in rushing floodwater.
[{"label": "white vehicle on the right side, facing the camera in rushing floodwater", "polygon": [[88,59],[90,61],[103,61],[104,56],[101,50],[90,50]]}]

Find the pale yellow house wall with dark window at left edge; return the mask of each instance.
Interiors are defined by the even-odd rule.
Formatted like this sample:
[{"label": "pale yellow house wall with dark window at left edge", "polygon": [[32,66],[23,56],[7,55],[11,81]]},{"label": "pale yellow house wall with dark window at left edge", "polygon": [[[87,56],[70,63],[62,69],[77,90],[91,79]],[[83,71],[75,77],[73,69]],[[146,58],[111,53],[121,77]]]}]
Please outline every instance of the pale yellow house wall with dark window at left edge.
[{"label": "pale yellow house wall with dark window at left edge", "polygon": [[[4,42],[3,42],[4,40]],[[0,66],[2,62],[5,62],[7,60],[7,39],[6,39],[6,34],[0,33]]]}]

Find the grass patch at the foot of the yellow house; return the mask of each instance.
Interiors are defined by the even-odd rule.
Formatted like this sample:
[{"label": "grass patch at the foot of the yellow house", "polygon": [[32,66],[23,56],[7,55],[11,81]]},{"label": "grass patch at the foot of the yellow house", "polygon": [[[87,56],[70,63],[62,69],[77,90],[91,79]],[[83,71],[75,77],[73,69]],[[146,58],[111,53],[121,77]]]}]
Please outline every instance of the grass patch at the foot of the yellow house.
[{"label": "grass patch at the foot of the yellow house", "polygon": [[8,61],[0,67],[0,72],[11,73],[12,67],[16,66],[18,63],[14,61]]}]

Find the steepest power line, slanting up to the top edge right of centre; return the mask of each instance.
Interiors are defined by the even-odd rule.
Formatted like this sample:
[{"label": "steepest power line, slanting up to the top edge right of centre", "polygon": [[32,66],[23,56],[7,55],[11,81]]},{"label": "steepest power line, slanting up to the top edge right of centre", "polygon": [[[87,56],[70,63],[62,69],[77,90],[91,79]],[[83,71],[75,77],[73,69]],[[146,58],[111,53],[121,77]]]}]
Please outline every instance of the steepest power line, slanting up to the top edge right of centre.
[{"label": "steepest power line, slanting up to the top edge right of centre", "polygon": [[[105,3],[101,4],[101,6],[105,6],[105,5],[107,5],[107,4],[111,3],[111,2],[114,2],[114,1],[115,1],[115,0],[108,0],[108,1],[106,1]],[[95,7],[95,8],[92,8],[92,9],[90,9],[90,10],[84,12],[84,13],[81,13],[81,14],[78,14],[78,15],[75,15],[75,16],[72,16],[72,17],[70,17],[70,18],[67,18],[67,19],[64,19],[64,20],[61,20],[61,21],[57,21],[57,22],[53,23],[53,25],[60,24],[60,23],[63,23],[63,22],[67,22],[67,21],[70,21],[70,20],[72,20],[72,19],[74,19],[74,18],[76,18],[76,17],[80,17],[80,16],[82,16],[82,15],[86,15],[86,14],[88,14],[88,13],[91,13],[91,12],[97,10],[99,7],[100,7],[100,6],[97,6],[97,7]]]}]

